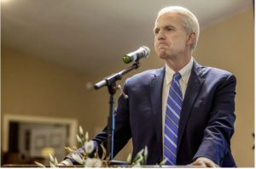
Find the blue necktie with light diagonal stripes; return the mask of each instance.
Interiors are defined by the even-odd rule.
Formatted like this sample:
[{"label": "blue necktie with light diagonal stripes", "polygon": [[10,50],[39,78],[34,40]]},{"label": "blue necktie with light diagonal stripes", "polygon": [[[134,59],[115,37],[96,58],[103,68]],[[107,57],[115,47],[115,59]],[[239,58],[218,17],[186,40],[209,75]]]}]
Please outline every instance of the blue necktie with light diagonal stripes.
[{"label": "blue necktie with light diagonal stripes", "polygon": [[175,166],[177,164],[177,131],[183,105],[183,94],[178,82],[180,78],[181,75],[178,72],[173,75],[166,104],[164,132],[164,159],[166,159],[166,166]]}]

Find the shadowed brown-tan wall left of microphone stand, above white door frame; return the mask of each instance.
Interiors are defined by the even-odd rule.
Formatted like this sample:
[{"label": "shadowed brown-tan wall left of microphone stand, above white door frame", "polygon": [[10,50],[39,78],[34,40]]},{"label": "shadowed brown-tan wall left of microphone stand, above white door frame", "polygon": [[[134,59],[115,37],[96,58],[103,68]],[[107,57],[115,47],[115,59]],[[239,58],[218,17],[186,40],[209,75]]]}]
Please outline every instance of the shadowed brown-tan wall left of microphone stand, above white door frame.
[{"label": "shadowed brown-tan wall left of microphone stand, above white door frame", "polygon": [[93,131],[93,110],[102,103],[86,90],[86,76],[11,48],[2,48],[1,73],[2,115],[77,118],[84,129]]}]

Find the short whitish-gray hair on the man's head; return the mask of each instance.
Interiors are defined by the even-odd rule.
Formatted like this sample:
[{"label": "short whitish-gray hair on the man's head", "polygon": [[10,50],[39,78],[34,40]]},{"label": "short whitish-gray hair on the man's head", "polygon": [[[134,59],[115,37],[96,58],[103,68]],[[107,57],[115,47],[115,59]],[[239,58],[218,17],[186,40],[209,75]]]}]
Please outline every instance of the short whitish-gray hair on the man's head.
[{"label": "short whitish-gray hair on the man's head", "polygon": [[160,15],[171,13],[171,12],[175,12],[181,16],[184,29],[188,35],[192,32],[195,33],[195,42],[193,42],[190,47],[192,50],[194,50],[199,38],[199,33],[200,33],[199,23],[197,18],[195,17],[195,14],[192,14],[187,8],[183,8],[179,6],[170,6],[170,7],[160,9],[157,19],[160,17]]}]

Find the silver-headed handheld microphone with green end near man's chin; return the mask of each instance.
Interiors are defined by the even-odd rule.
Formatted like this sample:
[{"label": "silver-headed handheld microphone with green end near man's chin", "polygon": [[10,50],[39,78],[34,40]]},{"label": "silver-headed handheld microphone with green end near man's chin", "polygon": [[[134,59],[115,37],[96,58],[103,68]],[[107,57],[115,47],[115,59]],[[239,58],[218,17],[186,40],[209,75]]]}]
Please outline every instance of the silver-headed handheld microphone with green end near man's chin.
[{"label": "silver-headed handheld microphone with green end near man's chin", "polygon": [[143,58],[146,59],[148,58],[149,54],[150,54],[150,49],[148,47],[143,46],[130,54],[126,54],[123,57],[123,61],[125,62],[125,64],[129,64],[132,61],[138,61]]}]

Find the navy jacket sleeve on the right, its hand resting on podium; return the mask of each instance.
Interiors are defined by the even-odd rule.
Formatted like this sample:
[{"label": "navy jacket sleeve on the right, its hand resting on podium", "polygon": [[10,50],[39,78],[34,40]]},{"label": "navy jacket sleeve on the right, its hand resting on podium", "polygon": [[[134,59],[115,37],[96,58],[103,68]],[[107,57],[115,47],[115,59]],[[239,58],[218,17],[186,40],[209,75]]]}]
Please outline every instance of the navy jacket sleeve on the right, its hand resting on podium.
[{"label": "navy jacket sleeve on the right, its hand resting on podium", "polygon": [[204,137],[194,160],[207,157],[220,165],[230,151],[230,138],[234,133],[236,77],[227,76],[218,85],[214,95],[212,111],[204,131]]}]

